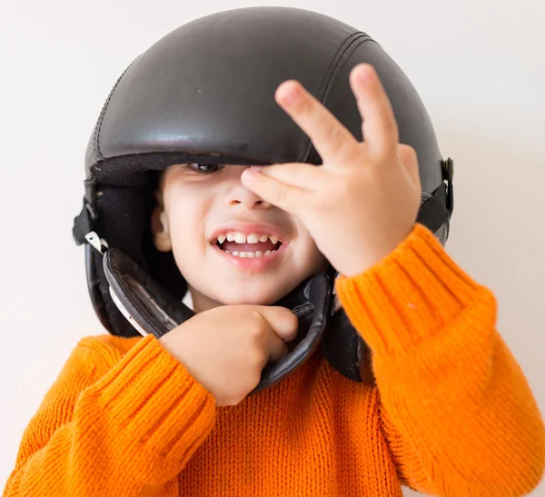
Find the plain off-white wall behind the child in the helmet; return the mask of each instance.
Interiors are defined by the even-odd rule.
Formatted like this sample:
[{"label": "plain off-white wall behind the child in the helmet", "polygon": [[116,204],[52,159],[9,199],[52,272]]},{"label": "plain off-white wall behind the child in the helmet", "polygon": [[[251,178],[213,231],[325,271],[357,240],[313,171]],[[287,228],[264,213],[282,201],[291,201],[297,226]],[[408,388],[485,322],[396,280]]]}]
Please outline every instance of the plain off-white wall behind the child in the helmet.
[{"label": "plain off-white wall behind the child in the helmet", "polygon": [[[115,80],[179,25],[260,2],[0,4],[0,488],[80,337],[102,333],[72,240],[84,150]],[[261,5],[288,5],[268,2]],[[500,303],[545,408],[545,6],[538,0],[295,1],[372,35],[416,86],[456,165],[448,251]],[[407,492],[407,495],[412,492]],[[545,495],[545,485],[532,495]]]}]

